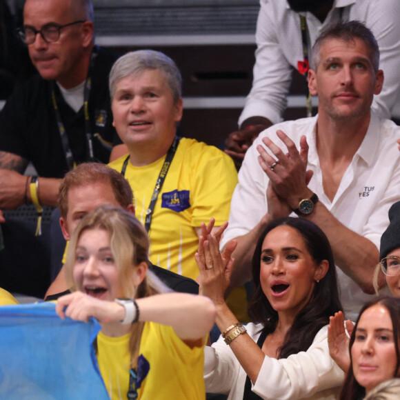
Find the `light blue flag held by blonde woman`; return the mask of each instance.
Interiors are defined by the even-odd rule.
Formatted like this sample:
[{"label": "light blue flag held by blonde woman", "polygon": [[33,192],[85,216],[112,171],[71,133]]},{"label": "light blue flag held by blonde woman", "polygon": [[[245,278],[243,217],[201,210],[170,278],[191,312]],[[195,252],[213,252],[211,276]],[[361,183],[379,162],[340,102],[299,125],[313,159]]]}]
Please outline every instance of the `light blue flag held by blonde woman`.
[{"label": "light blue flag held by blonde woman", "polygon": [[99,323],[61,319],[55,303],[0,307],[0,399],[108,400],[92,341]]}]

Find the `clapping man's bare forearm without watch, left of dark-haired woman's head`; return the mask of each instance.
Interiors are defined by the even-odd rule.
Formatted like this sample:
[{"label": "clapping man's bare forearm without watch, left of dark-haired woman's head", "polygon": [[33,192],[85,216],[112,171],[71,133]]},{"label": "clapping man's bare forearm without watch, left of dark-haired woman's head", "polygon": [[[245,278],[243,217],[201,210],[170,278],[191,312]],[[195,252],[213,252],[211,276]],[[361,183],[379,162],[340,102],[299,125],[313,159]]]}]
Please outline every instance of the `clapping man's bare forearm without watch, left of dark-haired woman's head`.
[{"label": "clapping man's bare forearm without watch, left of dark-haired woman's head", "polygon": [[261,232],[272,219],[268,214],[247,234],[237,237],[237,248],[232,253],[234,259],[230,286],[237,288],[252,279],[252,257]]}]

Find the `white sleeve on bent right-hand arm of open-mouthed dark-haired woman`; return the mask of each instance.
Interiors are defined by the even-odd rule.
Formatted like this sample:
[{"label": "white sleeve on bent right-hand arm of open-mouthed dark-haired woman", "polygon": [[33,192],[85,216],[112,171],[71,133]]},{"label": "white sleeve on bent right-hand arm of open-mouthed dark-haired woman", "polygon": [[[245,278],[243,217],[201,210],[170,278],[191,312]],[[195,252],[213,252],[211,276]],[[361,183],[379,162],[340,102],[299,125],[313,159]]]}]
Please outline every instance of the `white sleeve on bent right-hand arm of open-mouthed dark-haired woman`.
[{"label": "white sleeve on bent right-hand arm of open-mouthed dark-haired woman", "polygon": [[302,399],[321,390],[339,390],[343,378],[329,355],[328,326],[324,326],[306,352],[279,360],[266,356],[252,390],[263,399]]}]

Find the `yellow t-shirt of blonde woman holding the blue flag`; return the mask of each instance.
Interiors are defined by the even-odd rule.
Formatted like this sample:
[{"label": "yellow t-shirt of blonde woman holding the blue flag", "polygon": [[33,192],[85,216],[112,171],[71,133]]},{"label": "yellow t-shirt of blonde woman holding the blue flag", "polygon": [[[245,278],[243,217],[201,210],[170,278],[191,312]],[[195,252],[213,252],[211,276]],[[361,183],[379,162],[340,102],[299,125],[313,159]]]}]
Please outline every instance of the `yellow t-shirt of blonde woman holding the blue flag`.
[{"label": "yellow t-shirt of blonde woman holding the blue flag", "polygon": [[[127,399],[130,377],[129,334],[97,336],[97,359],[110,399]],[[138,398],[204,400],[203,347],[190,348],[170,326],[146,322],[139,349]]]}]

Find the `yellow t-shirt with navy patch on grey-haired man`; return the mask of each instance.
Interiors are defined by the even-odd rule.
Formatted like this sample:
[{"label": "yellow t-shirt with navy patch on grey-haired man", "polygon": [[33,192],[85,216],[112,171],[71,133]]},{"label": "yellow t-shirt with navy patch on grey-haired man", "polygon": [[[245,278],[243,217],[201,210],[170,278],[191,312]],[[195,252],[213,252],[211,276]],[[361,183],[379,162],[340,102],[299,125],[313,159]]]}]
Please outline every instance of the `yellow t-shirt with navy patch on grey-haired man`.
[{"label": "yellow t-shirt with navy patch on grey-haired man", "polygon": [[[110,163],[121,172],[123,156]],[[145,223],[146,210],[165,157],[148,166],[128,163],[125,177],[134,193],[136,216]],[[214,146],[182,138],[159,193],[150,227],[150,261],[185,277],[196,279],[194,260],[199,239],[194,228],[215,219],[220,226],[229,218],[230,199],[237,171],[227,154]]]}]

